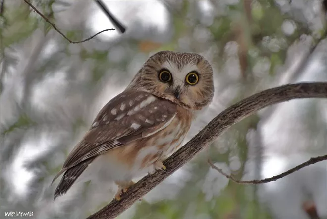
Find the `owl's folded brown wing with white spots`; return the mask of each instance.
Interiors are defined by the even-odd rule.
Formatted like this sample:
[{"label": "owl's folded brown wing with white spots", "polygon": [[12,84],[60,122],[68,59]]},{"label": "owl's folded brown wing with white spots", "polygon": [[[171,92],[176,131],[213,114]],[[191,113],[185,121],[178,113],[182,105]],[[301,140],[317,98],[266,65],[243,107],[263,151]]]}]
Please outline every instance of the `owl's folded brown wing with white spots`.
[{"label": "owl's folded brown wing with white spots", "polygon": [[122,92],[99,112],[92,127],[70,152],[54,180],[85,160],[153,135],[165,128],[176,114],[176,105],[168,100],[144,91]]}]

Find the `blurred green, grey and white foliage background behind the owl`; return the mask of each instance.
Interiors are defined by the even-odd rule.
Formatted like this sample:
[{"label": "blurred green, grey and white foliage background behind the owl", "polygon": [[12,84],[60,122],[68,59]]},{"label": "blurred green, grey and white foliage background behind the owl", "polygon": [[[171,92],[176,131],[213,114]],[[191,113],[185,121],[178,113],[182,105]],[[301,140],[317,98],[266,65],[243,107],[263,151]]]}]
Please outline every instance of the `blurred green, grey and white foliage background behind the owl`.
[{"label": "blurred green, grey and white foliage background behind the owl", "polygon": [[[160,50],[196,52],[215,71],[215,97],[187,140],[231,104],[261,90],[327,81],[326,1],[103,1],[127,31],[71,44],[24,1],[0,1],[0,207],[32,218],[85,218],[112,189],[50,183],[99,110]],[[114,28],[94,1],[32,0],[71,40]],[[262,185],[327,153],[326,99],[273,105],[231,127],[118,218],[327,218],[327,163]],[[12,217],[10,217],[12,218]]]}]

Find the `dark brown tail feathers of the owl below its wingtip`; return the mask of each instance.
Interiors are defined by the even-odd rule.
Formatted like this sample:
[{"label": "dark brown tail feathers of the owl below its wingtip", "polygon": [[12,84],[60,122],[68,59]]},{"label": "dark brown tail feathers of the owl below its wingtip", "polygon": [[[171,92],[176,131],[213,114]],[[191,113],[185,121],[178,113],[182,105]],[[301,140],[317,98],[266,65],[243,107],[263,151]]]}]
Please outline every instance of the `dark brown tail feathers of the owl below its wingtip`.
[{"label": "dark brown tail feathers of the owl below its wingtip", "polygon": [[56,197],[61,196],[68,191],[68,189],[73,185],[73,183],[76,181],[76,179],[82,174],[82,172],[88,167],[88,165],[93,160],[94,160],[93,157],[90,159],[87,159],[87,160],[81,162],[80,164],[69,168],[63,174],[63,177],[61,178],[59,185],[57,186],[57,188],[54,191],[54,200]]}]

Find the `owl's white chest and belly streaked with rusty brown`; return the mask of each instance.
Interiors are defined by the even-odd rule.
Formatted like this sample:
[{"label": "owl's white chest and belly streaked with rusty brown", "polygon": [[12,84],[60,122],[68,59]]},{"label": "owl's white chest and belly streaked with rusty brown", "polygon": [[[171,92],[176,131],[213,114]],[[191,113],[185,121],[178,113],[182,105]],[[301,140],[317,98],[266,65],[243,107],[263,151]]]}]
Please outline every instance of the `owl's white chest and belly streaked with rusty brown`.
[{"label": "owl's white chest and belly streaked with rusty brown", "polygon": [[175,118],[167,127],[147,138],[113,149],[109,152],[110,157],[107,157],[107,160],[111,162],[115,160],[115,163],[125,166],[126,172],[122,170],[120,172],[127,178],[153,172],[156,161],[165,160],[182,146],[191,126],[192,115],[184,109],[178,109]]}]

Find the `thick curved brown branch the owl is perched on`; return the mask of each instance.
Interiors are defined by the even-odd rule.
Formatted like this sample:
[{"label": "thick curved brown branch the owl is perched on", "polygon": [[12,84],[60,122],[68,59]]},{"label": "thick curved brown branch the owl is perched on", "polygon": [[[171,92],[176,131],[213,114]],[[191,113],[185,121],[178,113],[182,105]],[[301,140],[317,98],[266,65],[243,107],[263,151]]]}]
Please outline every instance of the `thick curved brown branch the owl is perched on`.
[{"label": "thick curved brown branch the owl is perched on", "polygon": [[171,155],[164,165],[165,171],[157,171],[153,175],[147,175],[126,193],[122,199],[111,201],[107,206],[88,218],[113,219],[128,209],[134,202],[142,198],[165,178],[190,161],[202,149],[209,146],[218,136],[225,132],[233,124],[256,111],[272,104],[298,98],[326,98],[326,82],[289,84],[252,95],[232,105],[215,117],[203,130],[192,138],[185,146]]}]

